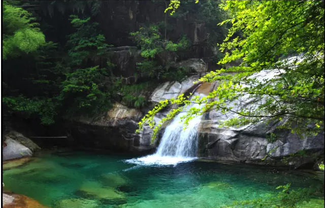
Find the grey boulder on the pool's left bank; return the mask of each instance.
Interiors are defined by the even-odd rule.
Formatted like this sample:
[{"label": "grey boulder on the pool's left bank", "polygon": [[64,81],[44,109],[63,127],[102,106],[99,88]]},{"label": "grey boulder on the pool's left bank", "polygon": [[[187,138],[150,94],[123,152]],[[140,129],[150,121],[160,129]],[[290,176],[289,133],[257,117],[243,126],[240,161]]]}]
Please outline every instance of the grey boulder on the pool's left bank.
[{"label": "grey boulder on the pool's left bank", "polygon": [[5,134],[6,147],[3,148],[3,160],[32,156],[34,151],[40,149],[29,138],[16,131]]}]

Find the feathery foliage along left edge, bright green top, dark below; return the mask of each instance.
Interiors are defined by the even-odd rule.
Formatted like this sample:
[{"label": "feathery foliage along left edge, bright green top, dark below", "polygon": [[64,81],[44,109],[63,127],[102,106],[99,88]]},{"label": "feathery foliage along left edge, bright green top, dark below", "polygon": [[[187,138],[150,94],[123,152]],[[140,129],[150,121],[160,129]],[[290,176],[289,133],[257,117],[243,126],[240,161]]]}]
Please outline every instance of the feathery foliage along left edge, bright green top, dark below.
[{"label": "feathery foliage along left edge, bright green top, dark below", "polygon": [[[20,76],[20,82],[6,79],[3,82],[4,96],[2,98],[5,115],[16,113],[23,117],[38,116],[42,124],[54,122],[56,116],[57,102],[50,96],[58,89],[57,82],[52,75],[57,73],[52,67],[53,62],[49,60],[49,53],[53,57],[53,49],[56,45],[52,42],[45,42],[45,36],[35,23],[35,18],[26,10],[15,6],[17,2],[3,2],[3,59],[6,64],[3,67],[5,78]],[[16,62],[15,57],[20,56],[20,61],[33,60],[35,68],[32,67],[30,74],[21,68],[14,71],[8,70],[8,64]],[[28,68],[28,66],[25,66]],[[22,83],[21,83],[22,82]],[[20,89],[20,94],[15,93],[19,84],[25,84]],[[36,87],[37,85],[37,87]],[[43,88],[43,92],[36,90]],[[26,96],[27,95],[27,96]]]}]

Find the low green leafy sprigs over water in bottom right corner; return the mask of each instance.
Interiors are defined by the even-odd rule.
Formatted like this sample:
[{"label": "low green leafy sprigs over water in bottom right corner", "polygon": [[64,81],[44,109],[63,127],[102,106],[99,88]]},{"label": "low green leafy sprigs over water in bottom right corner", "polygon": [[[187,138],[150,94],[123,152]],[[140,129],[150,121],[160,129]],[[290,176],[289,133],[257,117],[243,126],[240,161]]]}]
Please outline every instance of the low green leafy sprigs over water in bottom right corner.
[{"label": "low green leafy sprigs over water in bottom right corner", "polygon": [[311,189],[290,190],[290,184],[278,186],[276,189],[282,189],[277,196],[269,196],[265,198],[257,198],[253,200],[235,201],[230,206],[222,206],[220,208],[295,208],[298,205],[308,202],[313,193]]}]

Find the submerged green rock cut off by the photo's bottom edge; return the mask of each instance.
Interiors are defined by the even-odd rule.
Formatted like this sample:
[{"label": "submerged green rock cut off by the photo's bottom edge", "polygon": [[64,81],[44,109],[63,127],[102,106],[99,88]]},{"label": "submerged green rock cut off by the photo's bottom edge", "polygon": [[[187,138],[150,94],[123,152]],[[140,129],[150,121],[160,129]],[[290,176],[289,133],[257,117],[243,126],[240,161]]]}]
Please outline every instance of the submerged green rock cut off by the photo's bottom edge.
[{"label": "submerged green rock cut off by the photo's bottom edge", "polygon": [[94,208],[98,206],[98,202],[91,199],[71,198],[62,199],[56,203],[55,208]]}]

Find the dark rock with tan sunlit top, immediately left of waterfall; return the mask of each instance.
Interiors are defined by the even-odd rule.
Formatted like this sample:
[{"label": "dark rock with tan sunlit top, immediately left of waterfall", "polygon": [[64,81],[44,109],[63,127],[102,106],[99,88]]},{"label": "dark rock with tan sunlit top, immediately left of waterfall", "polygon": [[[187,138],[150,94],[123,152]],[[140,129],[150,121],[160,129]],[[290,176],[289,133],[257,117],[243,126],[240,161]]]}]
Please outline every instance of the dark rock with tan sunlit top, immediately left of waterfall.
[{"label": "dark rock with tan sunlit top, immediately left of waterfall", "polygon": [[79,118],[71,125],[77,144],[93,149],[141,153],[153,147],[140,147],[140,135],[135,131],[143,113],[115,103],[113,108],[100,118]]}]

